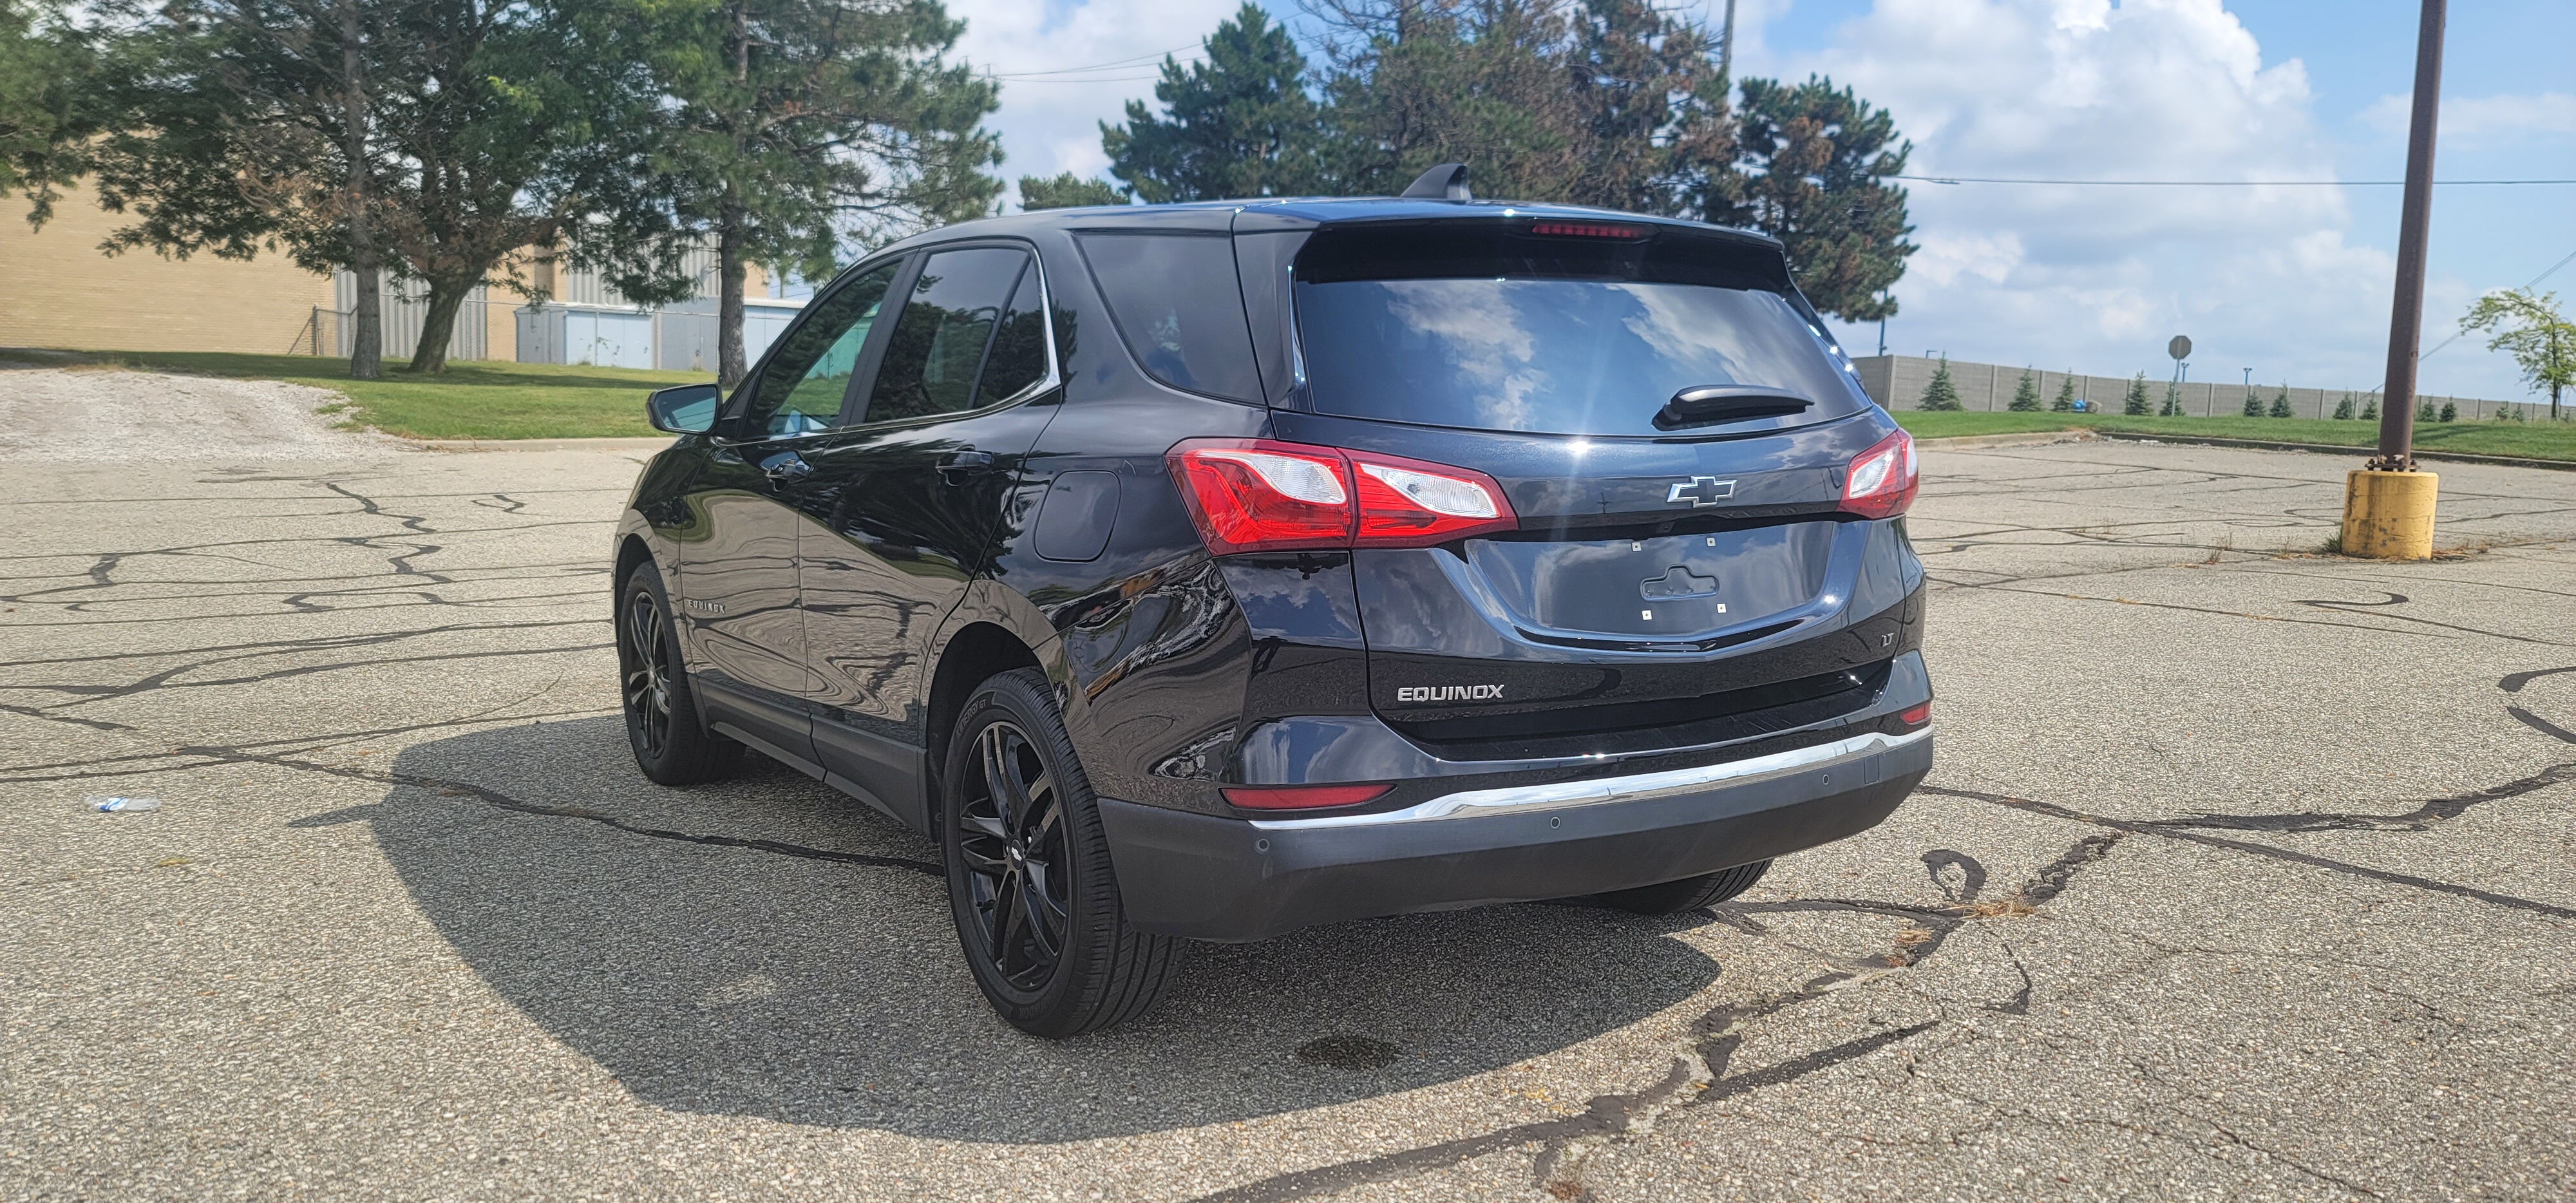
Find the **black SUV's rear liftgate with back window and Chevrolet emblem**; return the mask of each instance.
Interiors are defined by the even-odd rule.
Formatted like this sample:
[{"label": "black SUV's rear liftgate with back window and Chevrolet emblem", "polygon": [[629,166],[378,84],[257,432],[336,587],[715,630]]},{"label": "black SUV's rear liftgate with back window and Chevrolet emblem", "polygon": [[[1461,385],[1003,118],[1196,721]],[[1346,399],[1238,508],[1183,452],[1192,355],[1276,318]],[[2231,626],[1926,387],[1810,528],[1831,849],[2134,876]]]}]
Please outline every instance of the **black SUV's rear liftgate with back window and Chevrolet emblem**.
[{"label": "black SUV's rear liftgate with back window and Chevrolet emblem", "polygon": [[1607,222],[1327,227],[1296,281],[1306,379],[1278,435],[1479,469],[1520,515],[1355,554],[1370,703],[1399,732],[1461,757],[1718,742],[1759,734],[1726,716],[1852,701],[1893,654],[1855,623],[1901,618],[1880,613],[1901,538],[1839,513],[1893,422],[1777,250]]}]

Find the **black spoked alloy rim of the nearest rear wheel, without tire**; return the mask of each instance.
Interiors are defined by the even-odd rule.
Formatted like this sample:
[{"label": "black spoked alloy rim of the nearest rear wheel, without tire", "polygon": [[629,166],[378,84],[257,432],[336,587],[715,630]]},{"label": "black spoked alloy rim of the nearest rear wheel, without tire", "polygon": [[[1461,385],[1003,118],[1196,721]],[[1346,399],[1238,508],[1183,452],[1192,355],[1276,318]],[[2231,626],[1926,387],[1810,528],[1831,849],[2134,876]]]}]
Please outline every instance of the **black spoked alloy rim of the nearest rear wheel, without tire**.
[{"label": "black spoked alloy rim of the nearest rear wheel, without tire", "polygon": [[1064,806],[1028,734],[994,721],[976,734],[956,809],[958,860],[984,956],[1015,989],[1036,992],[1064,956]]}]

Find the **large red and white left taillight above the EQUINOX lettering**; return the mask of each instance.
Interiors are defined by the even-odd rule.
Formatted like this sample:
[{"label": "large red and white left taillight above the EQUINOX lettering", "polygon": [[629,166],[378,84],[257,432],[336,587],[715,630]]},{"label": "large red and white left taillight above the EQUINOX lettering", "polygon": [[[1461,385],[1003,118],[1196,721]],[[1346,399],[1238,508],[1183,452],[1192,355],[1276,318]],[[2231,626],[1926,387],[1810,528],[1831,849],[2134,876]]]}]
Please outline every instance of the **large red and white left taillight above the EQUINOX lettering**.
[{"label": "large red and white left taillight above the EQUINOX lettering", "polygon": [[1267,438],[1193,438],[1164,461],[1208,551],[1432,546],[1520,526],[1473,469]]}]

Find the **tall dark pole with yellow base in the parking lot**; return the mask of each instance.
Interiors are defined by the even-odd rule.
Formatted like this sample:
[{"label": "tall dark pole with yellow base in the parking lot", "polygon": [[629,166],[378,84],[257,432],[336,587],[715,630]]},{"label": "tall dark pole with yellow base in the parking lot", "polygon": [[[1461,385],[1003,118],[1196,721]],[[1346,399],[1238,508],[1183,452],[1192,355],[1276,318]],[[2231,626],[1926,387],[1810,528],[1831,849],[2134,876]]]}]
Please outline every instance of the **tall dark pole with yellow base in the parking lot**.
[{"label": "tall dark pole with yellow base in the parking lot", "polygon": [[2432,227],[2432,139],[2442,116],[2447,0],[2424,0],[2416,26],[2414,118],[2406,126],[2406,204],[2398,214],[2398,289],[2388,309],[2388,386],[2380,453],[2344,477],[2344,554],[2429,559],[2439,479],[2414,464],[2416,350],[2424,340],[2424,242]]}]

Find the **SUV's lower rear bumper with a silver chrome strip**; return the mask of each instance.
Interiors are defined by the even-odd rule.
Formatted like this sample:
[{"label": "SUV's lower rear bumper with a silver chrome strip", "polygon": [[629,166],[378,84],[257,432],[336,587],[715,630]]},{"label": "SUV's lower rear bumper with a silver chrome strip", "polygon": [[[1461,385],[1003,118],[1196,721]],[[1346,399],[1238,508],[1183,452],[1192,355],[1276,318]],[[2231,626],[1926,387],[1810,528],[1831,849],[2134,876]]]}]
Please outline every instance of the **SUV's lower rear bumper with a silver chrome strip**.
[{"label": "SUV's lower rear bumper with a silver chrome strip", "polygon": [[1388,814],[1221,819],[1100,799],[1128,920],[1200,940],[1651,886],[1865,832],[1932,732],[1726,765],[1448,793]]}]

